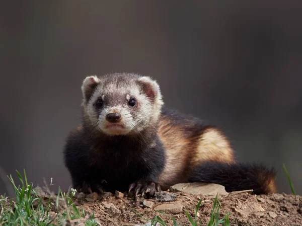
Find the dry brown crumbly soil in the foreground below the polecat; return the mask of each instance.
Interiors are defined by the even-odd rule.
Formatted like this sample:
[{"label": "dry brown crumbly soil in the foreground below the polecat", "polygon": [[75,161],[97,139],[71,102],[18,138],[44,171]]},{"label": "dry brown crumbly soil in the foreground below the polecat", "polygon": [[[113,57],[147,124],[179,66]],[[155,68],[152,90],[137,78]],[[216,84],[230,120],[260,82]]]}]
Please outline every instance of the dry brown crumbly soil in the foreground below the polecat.
[{"label": "dry brown crumbly soil in the foreground below the polecat", "polygon": [[[168,193],[167,193],[168,194]],[[171,194],[171,193],[170,193]],[[173,221],[155,210],[158,205],[171,203],[173,204],[173,211],[169,213],[178,222],[179,225],[191,225],[185,210],[194,216],[196,204],[203,200],[198,211],[199,218],[202,219],[201,225],[207,225],[211,209],[213,206],[213,197],[191,195],[183,192],[176,193],[175,201],[158,202],[155,199],[144,199],[119,194],[116,197],[114,194],[106,193],[103,197],[91,195],[83,197],[80,196],[75,201],[76,205],[84,208],[89,212],[95,212],[95,217],[99,222],[109,226],[121,225],[135,225],[144,224],[147,221],[143,218],[152,219],[155,215],[160,215],[166,220],[167,225],[173,225]],[[230,193],[228,196],[220,197],[220,218],[227,213],[230,215],[231,225],[302,225],[302,196],[291,194],[269,194],[269,195],[253,195],[247,192]],[[89,201],[87,201],[89,200]],[[143,206],[143,201],[153,202],[151,208]],[[112,204],[113,206],[112,206]],[[152,203],[144,203],[152,204]],[[183,208],[177,208],[183,206]],[[171,207],[171,205],[170,205]],[[134,210],[134,211],[132,211]],[[139,214],[142,214],[143,217]]]}]

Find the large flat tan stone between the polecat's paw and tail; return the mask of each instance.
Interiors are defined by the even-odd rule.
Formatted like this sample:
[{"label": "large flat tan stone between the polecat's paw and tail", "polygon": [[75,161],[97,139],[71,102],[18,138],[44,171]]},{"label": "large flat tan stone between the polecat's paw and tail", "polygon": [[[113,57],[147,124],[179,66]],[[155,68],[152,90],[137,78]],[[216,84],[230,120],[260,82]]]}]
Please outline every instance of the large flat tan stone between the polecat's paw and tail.
[{"label": "large flat tan stone between the polecat's paw and tail", "polygon": [[225,191],[224,187],[219,184],[211,184],[211,183],[181,183],[176,184],[170,187],[172,192],[186,192],[193,195],[206,195],[215,197],[217,193],[219,195],[228,195],[229,193]]}]

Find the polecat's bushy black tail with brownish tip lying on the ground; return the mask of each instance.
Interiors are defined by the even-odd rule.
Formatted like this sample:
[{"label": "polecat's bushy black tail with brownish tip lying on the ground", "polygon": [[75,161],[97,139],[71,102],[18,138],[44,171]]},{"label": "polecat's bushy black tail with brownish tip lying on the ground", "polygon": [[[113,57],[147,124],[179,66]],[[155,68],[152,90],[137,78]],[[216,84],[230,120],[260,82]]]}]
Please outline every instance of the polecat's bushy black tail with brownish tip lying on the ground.
[{"label": "polecat's bushy black tail with brownish tip lying on the ground", "polygon": [[262,165],[205,162],[192,173],[190,182],[220,184],[228,192],[253,189],[254,194],[276,193],[276,171]]}]

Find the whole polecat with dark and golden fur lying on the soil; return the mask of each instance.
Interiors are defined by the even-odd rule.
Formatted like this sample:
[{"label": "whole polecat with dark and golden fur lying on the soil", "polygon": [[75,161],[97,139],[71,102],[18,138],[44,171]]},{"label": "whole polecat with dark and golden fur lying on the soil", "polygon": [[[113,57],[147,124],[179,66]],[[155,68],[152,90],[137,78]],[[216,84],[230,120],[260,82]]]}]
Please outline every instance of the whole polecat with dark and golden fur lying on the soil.
[{"label": "whole polecat with dark and golden fur lying on the soil", "polygon": [[275,171],[237,163],[220,129],[163,107],[155,80],[132,73],[89,76],[82,93],[83,122],[64,148],[74,188],[154,195],[177,183],[209,182],[229,192],[276,191]]}]

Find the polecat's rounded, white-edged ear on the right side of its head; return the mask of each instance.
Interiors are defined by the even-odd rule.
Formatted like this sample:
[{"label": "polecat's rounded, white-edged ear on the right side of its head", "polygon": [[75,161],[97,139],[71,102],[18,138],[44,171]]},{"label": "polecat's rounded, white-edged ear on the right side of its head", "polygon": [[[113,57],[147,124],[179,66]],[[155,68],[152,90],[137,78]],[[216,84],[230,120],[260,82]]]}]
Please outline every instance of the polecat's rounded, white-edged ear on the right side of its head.
[{"label": "polecat's rounded, white-edged ear on the right side of its head", "polygon": [[162,99],[160,86],[155,80],[151,79],[150,77],[143,76],[138,79],[138,82],[148,98],[151,100]]}]

